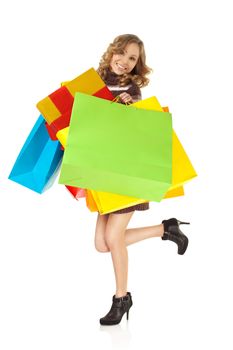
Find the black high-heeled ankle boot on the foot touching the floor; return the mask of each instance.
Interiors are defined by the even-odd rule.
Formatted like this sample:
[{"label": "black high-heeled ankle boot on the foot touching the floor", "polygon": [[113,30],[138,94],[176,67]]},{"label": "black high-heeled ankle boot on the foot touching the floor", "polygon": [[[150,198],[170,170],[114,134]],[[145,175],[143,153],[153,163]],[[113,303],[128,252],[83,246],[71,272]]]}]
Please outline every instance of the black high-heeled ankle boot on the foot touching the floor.
[{"label": "black high-heeled ankle boot on the foot touching the floor", "polygon": [[104,317],[100,318],[100,324],[102,325],[114,325],[121,322],[124,313],[127,313],[127,320],[129,319],[129,309],[133,305],[130,292],[123,297],[112,297],[112,306],[110,311]]}]

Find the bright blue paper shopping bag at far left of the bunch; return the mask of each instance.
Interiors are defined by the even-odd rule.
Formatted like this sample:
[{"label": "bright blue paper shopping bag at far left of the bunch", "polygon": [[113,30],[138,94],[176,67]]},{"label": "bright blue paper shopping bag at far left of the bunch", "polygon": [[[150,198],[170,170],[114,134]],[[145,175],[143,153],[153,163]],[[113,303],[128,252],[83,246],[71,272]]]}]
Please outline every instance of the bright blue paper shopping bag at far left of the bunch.
[{"label": "bright blue paper shopping bag at far left of the bunch", "polygon": [[9,175],[9,179],[37,193],[53,183],[63,151],[59,141],[52,141],[42,115],[29,133]]}]

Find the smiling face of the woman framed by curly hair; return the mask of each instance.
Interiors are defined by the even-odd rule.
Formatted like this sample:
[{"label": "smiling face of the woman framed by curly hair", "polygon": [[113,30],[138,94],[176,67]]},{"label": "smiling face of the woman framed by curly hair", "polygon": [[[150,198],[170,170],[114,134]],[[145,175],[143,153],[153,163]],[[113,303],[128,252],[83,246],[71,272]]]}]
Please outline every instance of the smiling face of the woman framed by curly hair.
[{"label": "smiling face of the woman framed by curly hair", "polygon": [[139,58],[139,46],[130,43],[119,53],[113,54],[110,61],[110,69],[117,75],[130,73],[137,64]]}]

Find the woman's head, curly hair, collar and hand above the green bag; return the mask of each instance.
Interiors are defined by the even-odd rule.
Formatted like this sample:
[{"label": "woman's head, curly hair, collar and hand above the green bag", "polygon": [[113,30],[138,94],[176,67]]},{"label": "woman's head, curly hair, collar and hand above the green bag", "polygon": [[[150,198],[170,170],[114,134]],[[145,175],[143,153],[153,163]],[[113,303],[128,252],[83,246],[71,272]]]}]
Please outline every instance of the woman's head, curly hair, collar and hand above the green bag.
[{"label": "woman's head, curly hair, collar and hand above the green bag", "polygon": [[97,72],[121,103],[141,100],[140,88],[149,83],[143,42],[134,34],[119,35],[103,54]]}]

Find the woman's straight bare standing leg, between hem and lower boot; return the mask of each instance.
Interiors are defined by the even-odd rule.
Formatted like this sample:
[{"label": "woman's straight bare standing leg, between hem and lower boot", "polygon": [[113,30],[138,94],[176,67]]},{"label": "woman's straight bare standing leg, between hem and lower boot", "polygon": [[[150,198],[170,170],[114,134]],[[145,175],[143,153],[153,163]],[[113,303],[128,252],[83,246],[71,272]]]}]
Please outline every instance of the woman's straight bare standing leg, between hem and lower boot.
[{"label": "woman's straight bare standing leg, between hem and lower boot", "polygon": [[127,293],[128,251],[125,244],[125,231],[133,213],[109,214],[106,225],[105,242],[112,256],[117,298]]}]

